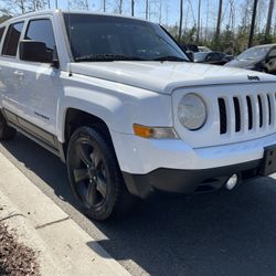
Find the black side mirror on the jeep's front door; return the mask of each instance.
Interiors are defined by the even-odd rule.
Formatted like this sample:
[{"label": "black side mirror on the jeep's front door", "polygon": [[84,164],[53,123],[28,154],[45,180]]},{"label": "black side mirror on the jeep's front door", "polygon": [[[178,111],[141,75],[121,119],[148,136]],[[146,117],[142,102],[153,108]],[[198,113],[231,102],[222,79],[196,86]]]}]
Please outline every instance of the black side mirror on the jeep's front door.
[{"label": "black side mirror on the jeep's front door", "polygon": [[19,54],[22,61],[53,63],[53,51],[43,42],[23,40],[19,45]]}]

